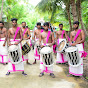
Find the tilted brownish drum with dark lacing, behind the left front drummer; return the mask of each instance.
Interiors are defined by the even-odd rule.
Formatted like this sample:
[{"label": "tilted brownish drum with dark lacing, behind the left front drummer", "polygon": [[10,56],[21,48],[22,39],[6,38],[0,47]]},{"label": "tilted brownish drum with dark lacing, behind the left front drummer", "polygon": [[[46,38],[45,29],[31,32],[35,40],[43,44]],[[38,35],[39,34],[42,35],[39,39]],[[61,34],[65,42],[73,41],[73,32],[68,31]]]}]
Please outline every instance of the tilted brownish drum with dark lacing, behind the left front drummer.
[{"label": "tilted brownish drum with dark lacing, behind the left front drummer", "polygon": [[26,55],[31,50],[31,42],[29,40],[22,41],[22,55]]}]

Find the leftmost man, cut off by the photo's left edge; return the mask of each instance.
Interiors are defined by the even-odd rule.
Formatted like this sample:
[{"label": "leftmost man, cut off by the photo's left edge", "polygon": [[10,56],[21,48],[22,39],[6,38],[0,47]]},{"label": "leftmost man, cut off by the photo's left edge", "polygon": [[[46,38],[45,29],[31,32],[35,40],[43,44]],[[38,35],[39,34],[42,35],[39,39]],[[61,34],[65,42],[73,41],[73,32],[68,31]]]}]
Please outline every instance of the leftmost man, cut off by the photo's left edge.
[{"label": "leftmost man, cut off by the photo's left edge", "polygon": [[7,29],[4,27],[4,23],[0,21],[0,63],[8,63],[8,51],[7,51]]}]

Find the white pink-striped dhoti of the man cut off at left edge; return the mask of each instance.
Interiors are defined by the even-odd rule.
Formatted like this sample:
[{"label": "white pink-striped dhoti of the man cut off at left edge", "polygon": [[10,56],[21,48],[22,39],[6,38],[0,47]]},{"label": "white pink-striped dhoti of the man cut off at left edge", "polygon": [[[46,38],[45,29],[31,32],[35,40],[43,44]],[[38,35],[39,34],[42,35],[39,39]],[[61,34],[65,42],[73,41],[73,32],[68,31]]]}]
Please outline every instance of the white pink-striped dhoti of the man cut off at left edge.
[{"label": "white pink-striped dhoti of the man cut off at left edge", "polygon": [[5,38],[0,39],[0,63],[8,63],[7,43],[3,46]]}]

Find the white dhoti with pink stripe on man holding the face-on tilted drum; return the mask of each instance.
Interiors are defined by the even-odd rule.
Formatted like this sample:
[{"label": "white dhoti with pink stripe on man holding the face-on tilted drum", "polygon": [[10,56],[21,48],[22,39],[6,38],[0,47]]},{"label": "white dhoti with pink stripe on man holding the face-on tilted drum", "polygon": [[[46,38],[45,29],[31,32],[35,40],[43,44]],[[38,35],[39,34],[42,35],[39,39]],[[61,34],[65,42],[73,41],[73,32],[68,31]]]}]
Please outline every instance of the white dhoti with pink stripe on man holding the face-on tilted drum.
[{"label": "white dhoti with pink stripe on man holding the face-on tilted drum", "polygon": [[[59,39],[59,43],[63,40],[66,40],[66,39]],[[59,53],[57,51],[57,60],[56,60],[56,63],[66,63],[68,62],[67,58],[66,58],[66,55],[63,54],[63,53]]]}]

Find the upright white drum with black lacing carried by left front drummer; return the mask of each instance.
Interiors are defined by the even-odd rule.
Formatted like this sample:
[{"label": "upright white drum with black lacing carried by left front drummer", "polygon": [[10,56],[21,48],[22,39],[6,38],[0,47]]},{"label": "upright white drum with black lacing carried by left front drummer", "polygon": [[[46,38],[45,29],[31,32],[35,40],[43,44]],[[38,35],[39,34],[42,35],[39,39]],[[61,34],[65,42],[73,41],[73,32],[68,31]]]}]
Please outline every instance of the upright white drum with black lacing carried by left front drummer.
[{"label": "upright white drum with black lacing carried by left front drummer", "polygon": [[9,51],[9,58],[12,64],[19,64],[22,61],[19,46],[11,45],[9,46],[8,51]]}]

